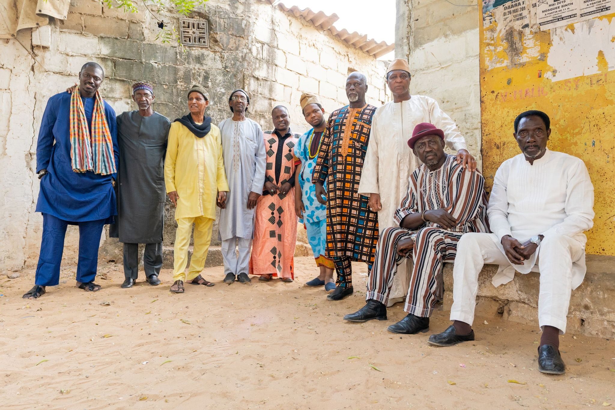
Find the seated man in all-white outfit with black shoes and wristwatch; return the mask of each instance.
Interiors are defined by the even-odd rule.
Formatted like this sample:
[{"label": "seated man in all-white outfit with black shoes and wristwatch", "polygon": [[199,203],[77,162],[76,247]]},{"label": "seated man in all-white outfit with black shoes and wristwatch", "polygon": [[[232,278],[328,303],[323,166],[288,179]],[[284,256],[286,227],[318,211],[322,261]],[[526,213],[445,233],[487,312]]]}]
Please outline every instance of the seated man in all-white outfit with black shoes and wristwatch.
[{"label": "seated man in all-white outfit with black shoes and wristwatch", "polygon": [[461,237],[453,269],[453,325],[429,337],[452,346],[473,341],[478,273],[499,265],[493,285],[510,282],[515,270],[540,272],[538,321],[542,329],[538,369],[562,374],[559,335],[566,331],[571,290],[585,276],[584,231],[593,226],[593,186],[583,161],[549,151],[549,116],[526,111],[515,119],[522,154],[504,161],[493,181],[487,216],[493,234]]}]

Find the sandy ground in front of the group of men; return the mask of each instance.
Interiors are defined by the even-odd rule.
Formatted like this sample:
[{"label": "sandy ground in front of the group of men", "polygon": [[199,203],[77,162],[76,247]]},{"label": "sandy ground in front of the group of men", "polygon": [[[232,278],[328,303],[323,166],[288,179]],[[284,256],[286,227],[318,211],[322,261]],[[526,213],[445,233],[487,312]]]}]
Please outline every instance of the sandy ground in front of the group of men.
[{"label": "sandy ground in front of the group of men", "polygon": [[[295,283],[222,282],[169,293],[141,282],[124,290],[120,266],[100,269],[103,290],[74,288],[74,270],[41,299],[21,298],[32,271],[0,282],[0,397],[4,409],[579,409],[615,408],[615,345],[565,335],[563,376],[538,372],[536,328],[480,317],[477,341],[430,347],[388,321],[347,323],[363,306],[365,265],[355,288],[328,302],[304,288],[316,272],[297,258]],[[142,273],[142,272],[141,272]],[[105,277],[106,280],[100,277]],[[435,333],[448,312],[431,321]],[[355,357],[355,358],[352,358]],[[370,365],[377,369],[371,368]],[[519,384],[510,382],[517,380]],[[613,403],[613,404],[609,404]]]}]

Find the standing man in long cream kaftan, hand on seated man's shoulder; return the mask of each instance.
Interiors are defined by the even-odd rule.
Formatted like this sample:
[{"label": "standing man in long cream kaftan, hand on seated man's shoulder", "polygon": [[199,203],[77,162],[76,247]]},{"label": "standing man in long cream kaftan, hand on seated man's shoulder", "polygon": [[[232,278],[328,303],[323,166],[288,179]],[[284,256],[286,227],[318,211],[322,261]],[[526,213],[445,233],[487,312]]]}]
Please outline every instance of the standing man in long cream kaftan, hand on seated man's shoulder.
[{"label": "standing man in long cream kaftan, hand on seated man's shoulder", "polygon": [[[408,192],[408,181],[419,167],[419,160],[408,147],[412,131],[421,122],[434,124],[444,132],[445,144],[457,151],[458,162],[467,162],[470,170],[476,162],[467,152],[463,138],[453,120],[430,97],[410,95],[410,67],[408,61],[397,58],[387,70],[387,83],[394,100],[376,109],[371,122],[370,143],[367,146],[359,195],[376,197],[370,206],[378,211],[378,229],[397,226],[393,219],[395,210]],[[408,292],[412,272],[412,259],[397,267],[389,306],[400,302]]]}]

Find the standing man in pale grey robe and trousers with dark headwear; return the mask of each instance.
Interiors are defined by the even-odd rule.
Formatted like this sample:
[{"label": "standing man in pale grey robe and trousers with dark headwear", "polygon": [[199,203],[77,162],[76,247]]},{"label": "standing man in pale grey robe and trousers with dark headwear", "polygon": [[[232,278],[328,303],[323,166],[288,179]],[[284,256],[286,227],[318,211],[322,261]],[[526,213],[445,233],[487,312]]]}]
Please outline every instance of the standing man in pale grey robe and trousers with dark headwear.
[{"label": "standing man in pale grey robe and trousers with dark headwear", "polygon": [[221,209],[218,223],[225,283],[235,282],[236,279],[240,283],[250,282],[248,264],[254,231],[254,208],[263,193],[265,180],[263,130],[257,122],[245,117],[249,105],[250,98],[244,90],[232,92],[229,107],[233,116],[218,125],[230,188],[226,208]]}]

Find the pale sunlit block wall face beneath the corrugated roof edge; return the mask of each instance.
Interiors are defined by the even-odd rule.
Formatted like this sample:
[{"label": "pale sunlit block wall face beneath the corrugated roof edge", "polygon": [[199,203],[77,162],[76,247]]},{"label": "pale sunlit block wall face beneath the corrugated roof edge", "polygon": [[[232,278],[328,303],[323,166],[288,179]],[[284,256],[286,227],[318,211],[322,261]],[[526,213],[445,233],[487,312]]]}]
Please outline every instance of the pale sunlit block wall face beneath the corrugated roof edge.
[{"label": "pale sunlit block wall face beneath the corrugated roof edge", "polygon": [[254,4],[252,13],[250,52],[257,69],[246,72],[246,82],[257,104],[255,119],[264,130],[272,128],[271,109],[283,104],[293,131],[306,131],[309,125],[299,105],[303,92],[320,95],[327,114],[348,104],[345,84],[352,71],[367,76],[368,103],[380,106],[388,101],[383,61],[267,4]]}]

